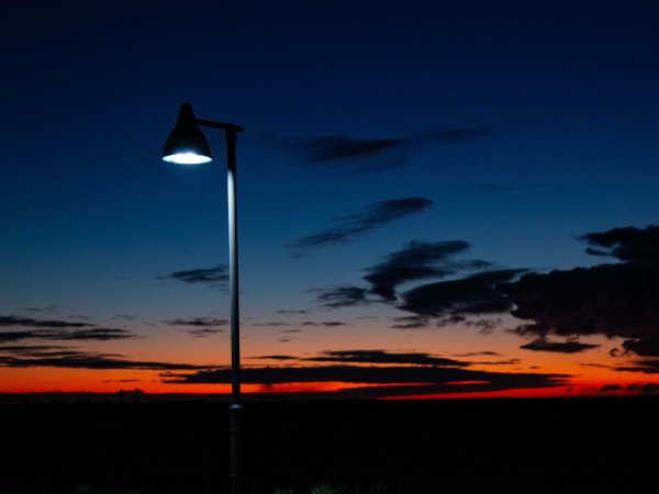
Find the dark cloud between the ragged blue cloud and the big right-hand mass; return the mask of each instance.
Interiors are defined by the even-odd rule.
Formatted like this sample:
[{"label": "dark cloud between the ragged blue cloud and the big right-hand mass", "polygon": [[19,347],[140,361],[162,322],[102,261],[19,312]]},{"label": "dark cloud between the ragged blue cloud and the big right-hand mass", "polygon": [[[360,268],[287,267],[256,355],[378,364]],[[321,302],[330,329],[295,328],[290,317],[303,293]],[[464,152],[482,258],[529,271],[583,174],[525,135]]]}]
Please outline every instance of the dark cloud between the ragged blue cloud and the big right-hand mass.
[{"label": "dark cloud between the ragged blue cloud and the big right-hand mass", "polygon": [[479,272],[467,278],[424,284],[403,293],[399,308],[424,316],[482,315],[510,311],[511,302],[494,290],[521,269]]}]

